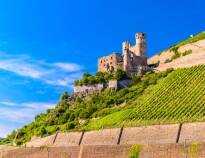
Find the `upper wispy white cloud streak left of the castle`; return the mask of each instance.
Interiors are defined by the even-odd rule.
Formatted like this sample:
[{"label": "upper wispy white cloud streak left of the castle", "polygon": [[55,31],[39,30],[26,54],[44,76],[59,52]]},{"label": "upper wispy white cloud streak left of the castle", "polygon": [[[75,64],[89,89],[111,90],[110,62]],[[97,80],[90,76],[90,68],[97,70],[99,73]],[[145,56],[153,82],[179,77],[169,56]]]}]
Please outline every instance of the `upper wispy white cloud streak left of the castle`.
[{"label": "upper wispy white cloud streak left of the castle", "polygon": [[10,56],[0,53],[0,70],[40,80],[54,86],[70,86],[82,76],[81,65],[69,62],[48,63],[26,55]]}]

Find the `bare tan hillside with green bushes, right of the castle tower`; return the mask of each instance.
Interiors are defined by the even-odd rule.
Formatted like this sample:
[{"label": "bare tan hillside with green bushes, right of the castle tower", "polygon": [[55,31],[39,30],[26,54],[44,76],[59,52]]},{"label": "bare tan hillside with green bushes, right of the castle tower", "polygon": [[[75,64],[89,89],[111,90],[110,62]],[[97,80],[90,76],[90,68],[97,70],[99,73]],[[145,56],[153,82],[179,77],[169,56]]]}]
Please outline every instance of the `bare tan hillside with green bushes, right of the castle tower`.
[{"label": "bare tan hillside with green bushes, right of the castle tower", "polygon": [[196,34],[148,59],[148,64],[159,64],[159,70],[205,64],[205,32]]}]

